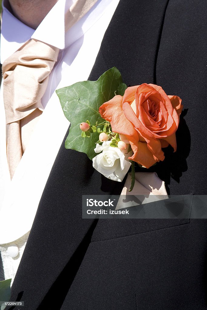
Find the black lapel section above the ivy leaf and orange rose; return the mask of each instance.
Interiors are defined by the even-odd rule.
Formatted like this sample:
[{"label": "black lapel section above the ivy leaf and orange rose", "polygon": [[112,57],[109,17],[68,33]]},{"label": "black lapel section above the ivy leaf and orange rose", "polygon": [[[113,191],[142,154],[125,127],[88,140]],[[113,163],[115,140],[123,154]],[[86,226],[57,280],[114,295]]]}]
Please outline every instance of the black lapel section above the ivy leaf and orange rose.
[{"label": "black lapel section above the ivy leaf and orange rose", "polygon": [[89,80],[117,67],[127,86],[155,82],[155,60],[168,0],[120,0]]}]

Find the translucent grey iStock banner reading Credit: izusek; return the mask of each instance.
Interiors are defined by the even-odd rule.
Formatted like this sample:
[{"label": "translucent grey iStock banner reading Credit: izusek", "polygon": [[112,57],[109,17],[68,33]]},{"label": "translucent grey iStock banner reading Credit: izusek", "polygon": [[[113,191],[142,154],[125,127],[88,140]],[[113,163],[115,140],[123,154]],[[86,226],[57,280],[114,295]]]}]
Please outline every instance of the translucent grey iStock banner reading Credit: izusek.
[{"label": "translucent grey iStock banner reading Credit: izusek", "polygon": [[207,195],[83,195],[83,219],[207,219]]}]

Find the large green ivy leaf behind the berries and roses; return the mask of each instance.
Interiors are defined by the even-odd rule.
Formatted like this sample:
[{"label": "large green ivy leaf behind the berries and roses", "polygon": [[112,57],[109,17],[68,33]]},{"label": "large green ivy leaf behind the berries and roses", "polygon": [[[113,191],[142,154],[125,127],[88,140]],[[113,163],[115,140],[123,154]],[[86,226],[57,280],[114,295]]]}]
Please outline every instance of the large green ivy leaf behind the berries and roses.
[{"label": "large green ivy leaf behind the berries and roses", "polygon": [[103,122],[104,120],[98,113],[99,107],[112,99],[115,91],[117,95],[124,95],[126,88],[119,70],[113,67],[95,82],[78,82],[56,90],[65,117],[71,122],[65,148],[86,153],[92,160],[97,155],[94,148],[99,138],[99,131],[93,132],[90,139],[82,139],[79,125],[86,119],[91,124]]}]

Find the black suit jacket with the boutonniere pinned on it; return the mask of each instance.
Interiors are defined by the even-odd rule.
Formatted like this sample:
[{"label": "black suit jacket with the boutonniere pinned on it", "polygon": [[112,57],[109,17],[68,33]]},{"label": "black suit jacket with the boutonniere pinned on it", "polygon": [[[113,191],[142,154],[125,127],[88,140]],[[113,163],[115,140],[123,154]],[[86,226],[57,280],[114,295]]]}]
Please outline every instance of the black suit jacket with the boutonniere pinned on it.
[{"label": "black suit jacket with the boutonniere pinned on it", "polygon": [[[128,86],[154,83],[182,98],[178,150],[149,170],[170,194],[207,194],[206,20],[205,0],[120,0],[89,77],[116,66]],[[12,301],[25,310],[207,309],[205,219],[82,219],[82,194],[122,186],[63,141]]]}]

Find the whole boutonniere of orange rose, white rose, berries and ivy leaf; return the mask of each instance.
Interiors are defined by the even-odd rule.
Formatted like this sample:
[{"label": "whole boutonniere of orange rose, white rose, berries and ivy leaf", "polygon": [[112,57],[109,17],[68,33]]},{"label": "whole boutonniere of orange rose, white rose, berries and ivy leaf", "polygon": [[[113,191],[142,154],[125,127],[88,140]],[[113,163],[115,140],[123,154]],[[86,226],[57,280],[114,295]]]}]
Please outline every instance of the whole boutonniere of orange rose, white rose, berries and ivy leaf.
[{"label": "whole boutonniere of orange rose, white rose, berries and ivy leaf", "polygon": [[65,148],[86,153],[106,178],[121,182],[130,166],[150,168],[164,160],[162,148],[176,151],[175,132],[181,99],[162,87],[143,83],[127,87],[117,68],[93,81],[58,89],[65,117],[70,121]]}]

